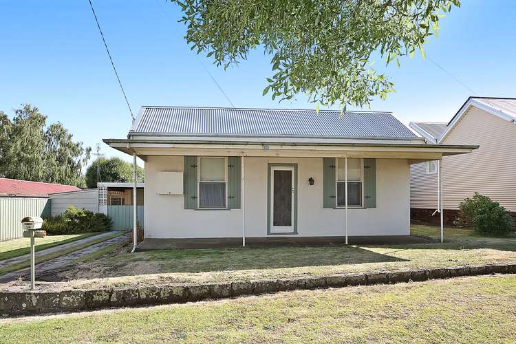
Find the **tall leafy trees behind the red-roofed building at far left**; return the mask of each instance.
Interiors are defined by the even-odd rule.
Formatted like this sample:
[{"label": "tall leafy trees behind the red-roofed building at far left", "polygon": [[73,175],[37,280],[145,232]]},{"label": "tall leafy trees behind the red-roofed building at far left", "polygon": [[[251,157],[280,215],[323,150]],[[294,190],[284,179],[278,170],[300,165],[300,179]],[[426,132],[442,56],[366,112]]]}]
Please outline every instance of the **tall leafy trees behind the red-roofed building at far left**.
[{"label": "tall leafy trees behind the red-roofed building at far left", "polygon": [[10,120],[0,113],[0,176],[84,186],[82,168],[89,147],[74,142],[61,123],[45,128],[47,117],[25,104]]}]

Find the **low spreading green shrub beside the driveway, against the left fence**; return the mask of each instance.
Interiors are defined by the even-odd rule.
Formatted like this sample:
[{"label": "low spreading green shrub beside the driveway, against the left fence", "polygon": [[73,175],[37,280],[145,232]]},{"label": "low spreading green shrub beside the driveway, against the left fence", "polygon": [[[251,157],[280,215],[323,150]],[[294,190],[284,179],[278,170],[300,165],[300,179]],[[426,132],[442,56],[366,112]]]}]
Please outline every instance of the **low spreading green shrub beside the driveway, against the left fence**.
[{"label": "low spreading green shrub beside the driveway, against the left fence", "polygon": [[103,213],[92,213],[69,206],[61,215],[51,216],[43,222],[48,235],[104,232],[111,230],[111,219]]}]

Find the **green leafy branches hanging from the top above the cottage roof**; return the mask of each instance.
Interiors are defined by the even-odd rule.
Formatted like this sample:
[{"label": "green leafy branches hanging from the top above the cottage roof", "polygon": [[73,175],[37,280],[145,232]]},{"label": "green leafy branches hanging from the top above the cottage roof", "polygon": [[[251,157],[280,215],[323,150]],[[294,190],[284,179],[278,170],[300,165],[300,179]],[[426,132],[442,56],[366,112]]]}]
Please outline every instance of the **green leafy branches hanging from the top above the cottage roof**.
[{"label": "green leafy branches hanging from the top above the cottage roof", "polygon": [[385,98],[393,83],[372,55],[387,63],[412,55],[438,30],[459,0],[171,0],[188,26],[186,41],[217,65],[246,59],[257,46],[272,55],[264,94],[303,92],[321,105],[363,106]]}]

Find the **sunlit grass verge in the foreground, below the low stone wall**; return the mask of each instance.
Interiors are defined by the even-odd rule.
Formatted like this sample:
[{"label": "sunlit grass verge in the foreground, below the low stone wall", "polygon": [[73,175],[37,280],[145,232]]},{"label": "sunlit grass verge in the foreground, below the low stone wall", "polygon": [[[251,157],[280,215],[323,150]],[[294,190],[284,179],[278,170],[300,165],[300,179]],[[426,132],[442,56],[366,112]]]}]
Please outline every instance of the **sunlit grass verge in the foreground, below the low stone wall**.
[{"label": "sunlit grass verge in the foreground, below the low stone wall", "polygon": [[6,343],[514,343],[516,275],[5,319]]}]

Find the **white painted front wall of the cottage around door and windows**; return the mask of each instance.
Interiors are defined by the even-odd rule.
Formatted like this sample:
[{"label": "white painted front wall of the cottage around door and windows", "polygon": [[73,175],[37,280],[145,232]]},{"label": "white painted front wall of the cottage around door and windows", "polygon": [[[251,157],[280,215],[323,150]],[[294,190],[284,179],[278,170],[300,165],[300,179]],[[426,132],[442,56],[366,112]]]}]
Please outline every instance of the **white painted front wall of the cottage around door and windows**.
[{"label": "white painted front wall of the cottage around door and windows", "polygon": [[[297,237],[343,236],[344,209],[323,208],[322,158],[245,158],[246,237],[267,236],[268,163],[298,164]],[[146,238],[241,237],[242,211],[185,210],[183,195],[159,195],[158,172],[182,172],[182,156],[148,155],[145,162]],[[349,235],[409,235],[406,159],[376,160],[376,208],[349,210]],[[308,178],[314,178],[310,186]]]}]

